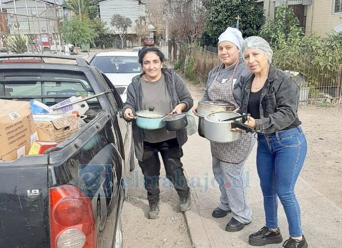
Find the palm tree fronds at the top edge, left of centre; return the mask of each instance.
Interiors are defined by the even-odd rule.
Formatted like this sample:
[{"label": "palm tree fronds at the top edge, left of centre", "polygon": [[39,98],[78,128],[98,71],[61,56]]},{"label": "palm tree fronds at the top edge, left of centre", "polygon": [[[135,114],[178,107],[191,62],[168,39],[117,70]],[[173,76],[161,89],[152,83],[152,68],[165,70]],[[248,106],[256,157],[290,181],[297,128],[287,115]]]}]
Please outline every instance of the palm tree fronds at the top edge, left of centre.
[{"label": "palm tree fronds at the top edge, left of centre", "polygon": [[62,7],[70,9],[76,15],[80,15],[81,12],[81,16],[93,20],[98,16],[96,4],[97,0],[68,0]]}]

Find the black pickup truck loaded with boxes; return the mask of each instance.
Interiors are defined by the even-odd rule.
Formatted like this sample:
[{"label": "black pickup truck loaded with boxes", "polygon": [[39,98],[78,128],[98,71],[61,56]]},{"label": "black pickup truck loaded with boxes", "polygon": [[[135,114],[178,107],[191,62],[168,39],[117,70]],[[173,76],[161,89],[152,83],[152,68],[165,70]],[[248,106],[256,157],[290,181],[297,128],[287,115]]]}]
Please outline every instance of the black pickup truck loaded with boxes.
[{"label": "black pickup truck loaded with boxes", "polygon": [[134,169],[131,124],[101,71],[82,58],[0,56],[1,99],[50,106],[111,89],[87,100],[85,125],[56,148],[0,162],[0,248],[120,248],[125,177]]}]

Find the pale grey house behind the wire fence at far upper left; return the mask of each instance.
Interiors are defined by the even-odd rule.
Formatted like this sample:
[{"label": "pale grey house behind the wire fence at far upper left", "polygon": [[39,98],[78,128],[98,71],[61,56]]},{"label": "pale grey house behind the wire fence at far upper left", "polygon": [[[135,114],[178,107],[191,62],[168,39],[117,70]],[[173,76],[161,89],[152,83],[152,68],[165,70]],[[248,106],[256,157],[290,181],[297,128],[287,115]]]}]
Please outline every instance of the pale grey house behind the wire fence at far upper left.
[{"label": "pale grey house behind the wire fence at far upper left", "polygon": [[2,0],[1,3],[10,34],[57,34],[58,22],[70,16],[61,7],[63,0]]}]

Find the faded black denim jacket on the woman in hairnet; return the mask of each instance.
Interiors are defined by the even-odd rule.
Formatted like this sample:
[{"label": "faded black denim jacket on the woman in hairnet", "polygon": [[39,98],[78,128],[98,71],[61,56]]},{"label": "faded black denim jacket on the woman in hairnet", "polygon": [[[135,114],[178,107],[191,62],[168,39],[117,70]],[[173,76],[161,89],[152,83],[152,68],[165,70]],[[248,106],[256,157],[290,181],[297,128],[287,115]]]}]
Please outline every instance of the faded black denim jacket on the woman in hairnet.
[{"label": "faded black denim jacket on the woman in hairnet", "polygon": [[[247,113],[254,76],[242,76],[240,83],[234,87],[241,88],[240,114]],[[256,132],[274,133],[292,124],[298,118],[299,89],[289,74],[271,64],[260,96],[260,118],[256,119]]]}]

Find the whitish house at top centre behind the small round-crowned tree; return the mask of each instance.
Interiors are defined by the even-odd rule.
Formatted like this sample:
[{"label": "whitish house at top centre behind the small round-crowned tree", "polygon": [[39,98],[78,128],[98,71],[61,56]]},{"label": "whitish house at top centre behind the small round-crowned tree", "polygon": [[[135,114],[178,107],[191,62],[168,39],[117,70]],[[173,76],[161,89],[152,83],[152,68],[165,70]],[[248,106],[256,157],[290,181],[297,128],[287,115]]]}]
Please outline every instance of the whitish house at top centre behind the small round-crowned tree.
[{"label": "whitish house at top centre behind the small round-crowned tree", "polygon": [[99,16],[105,21],[106,28],[114,31],[111,26],[112,16],[119,14],[132,20],[132,27],[128,28],[127,34],[136,34],[135,25],[138,18],[146,20],[145,2],[142,0],[100,0],[98,3]]}]

